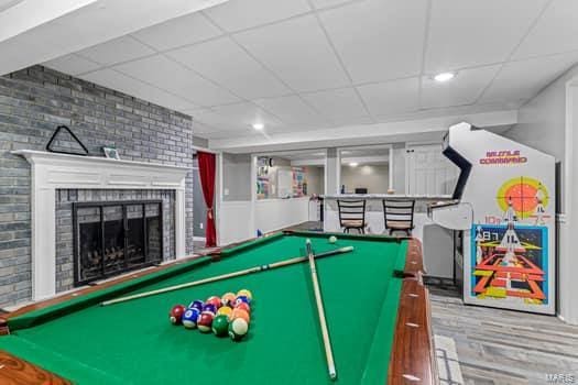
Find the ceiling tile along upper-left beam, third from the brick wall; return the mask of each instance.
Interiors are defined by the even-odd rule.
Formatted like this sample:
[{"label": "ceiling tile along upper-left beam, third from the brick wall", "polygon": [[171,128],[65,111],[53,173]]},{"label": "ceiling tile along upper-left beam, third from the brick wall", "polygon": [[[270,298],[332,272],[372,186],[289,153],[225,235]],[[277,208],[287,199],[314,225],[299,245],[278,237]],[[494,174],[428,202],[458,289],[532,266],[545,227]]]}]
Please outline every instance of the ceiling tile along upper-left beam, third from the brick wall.
[{"label": "ceiling tile along upper-left beam, third from the brick wall", "polygon": [[159,51],[197,43],[222,34],[203,13],[195,12],[149,26],[132,35]]}]

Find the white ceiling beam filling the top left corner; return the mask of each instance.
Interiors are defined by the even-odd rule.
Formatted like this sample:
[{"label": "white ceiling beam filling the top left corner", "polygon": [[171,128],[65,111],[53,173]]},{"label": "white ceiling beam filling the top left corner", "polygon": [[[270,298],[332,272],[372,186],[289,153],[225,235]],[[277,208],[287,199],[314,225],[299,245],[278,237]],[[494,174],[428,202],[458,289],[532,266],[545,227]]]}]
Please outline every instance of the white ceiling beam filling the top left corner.
[{"label": "white ceiling beam filling the top left corner", "polygon": [[227,1],[23,1],[0,13],[0,75]]}]

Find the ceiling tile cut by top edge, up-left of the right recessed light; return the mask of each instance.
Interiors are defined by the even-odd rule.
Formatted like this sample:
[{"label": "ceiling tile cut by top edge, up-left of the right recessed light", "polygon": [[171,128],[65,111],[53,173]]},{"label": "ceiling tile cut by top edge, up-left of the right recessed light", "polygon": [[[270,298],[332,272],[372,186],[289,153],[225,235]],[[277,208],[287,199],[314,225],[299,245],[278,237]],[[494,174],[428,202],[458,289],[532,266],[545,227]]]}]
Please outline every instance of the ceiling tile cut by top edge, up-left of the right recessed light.
[{"label": "ceiling tile cut by top edge, up-left of the right recessed light", "polygon": [[426,0],[368,0],[319,13],[353,82],[421,72]]}]

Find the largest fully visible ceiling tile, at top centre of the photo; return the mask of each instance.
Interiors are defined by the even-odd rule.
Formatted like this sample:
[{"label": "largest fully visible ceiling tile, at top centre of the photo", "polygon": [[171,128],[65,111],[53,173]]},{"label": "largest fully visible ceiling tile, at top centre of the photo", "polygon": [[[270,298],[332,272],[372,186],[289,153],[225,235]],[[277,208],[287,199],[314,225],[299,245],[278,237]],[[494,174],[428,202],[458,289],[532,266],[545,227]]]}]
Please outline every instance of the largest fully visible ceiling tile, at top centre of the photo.
[{"label": "largest fully visible ceiling tile, at top centre of the photo", "polygon": [[295,90],[317,90],[348,84],[313,15],[242,32],[235,38]]}]

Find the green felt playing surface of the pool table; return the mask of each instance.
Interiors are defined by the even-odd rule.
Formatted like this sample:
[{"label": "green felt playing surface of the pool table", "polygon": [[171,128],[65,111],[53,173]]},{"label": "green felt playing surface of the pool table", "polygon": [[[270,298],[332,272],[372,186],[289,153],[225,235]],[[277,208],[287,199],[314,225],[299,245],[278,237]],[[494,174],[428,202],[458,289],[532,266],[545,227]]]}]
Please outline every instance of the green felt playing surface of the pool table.
[{"label": "green felt playing surface of the pool table", "polygon": [[[313,237],[315,252],[355,251],[317,261],[338,384],[383,384],[386,377],[406,242]],[[274,237],[225,253],[222,261],[181,266],[129,293],[146,292],[305,255],[303,234]],[[248,288],[252,321],[241,342],[168,322],[175,304]],[[129,302],[66,312],[0,339],[7,350],[78,384],[327,384],[325,353],[308,264],[303,263]],[[48,312],[48,315],[51,315]],[[39,315],[36,315],[39,316]],[[52,317],[52,316],[51,316]]]}]

